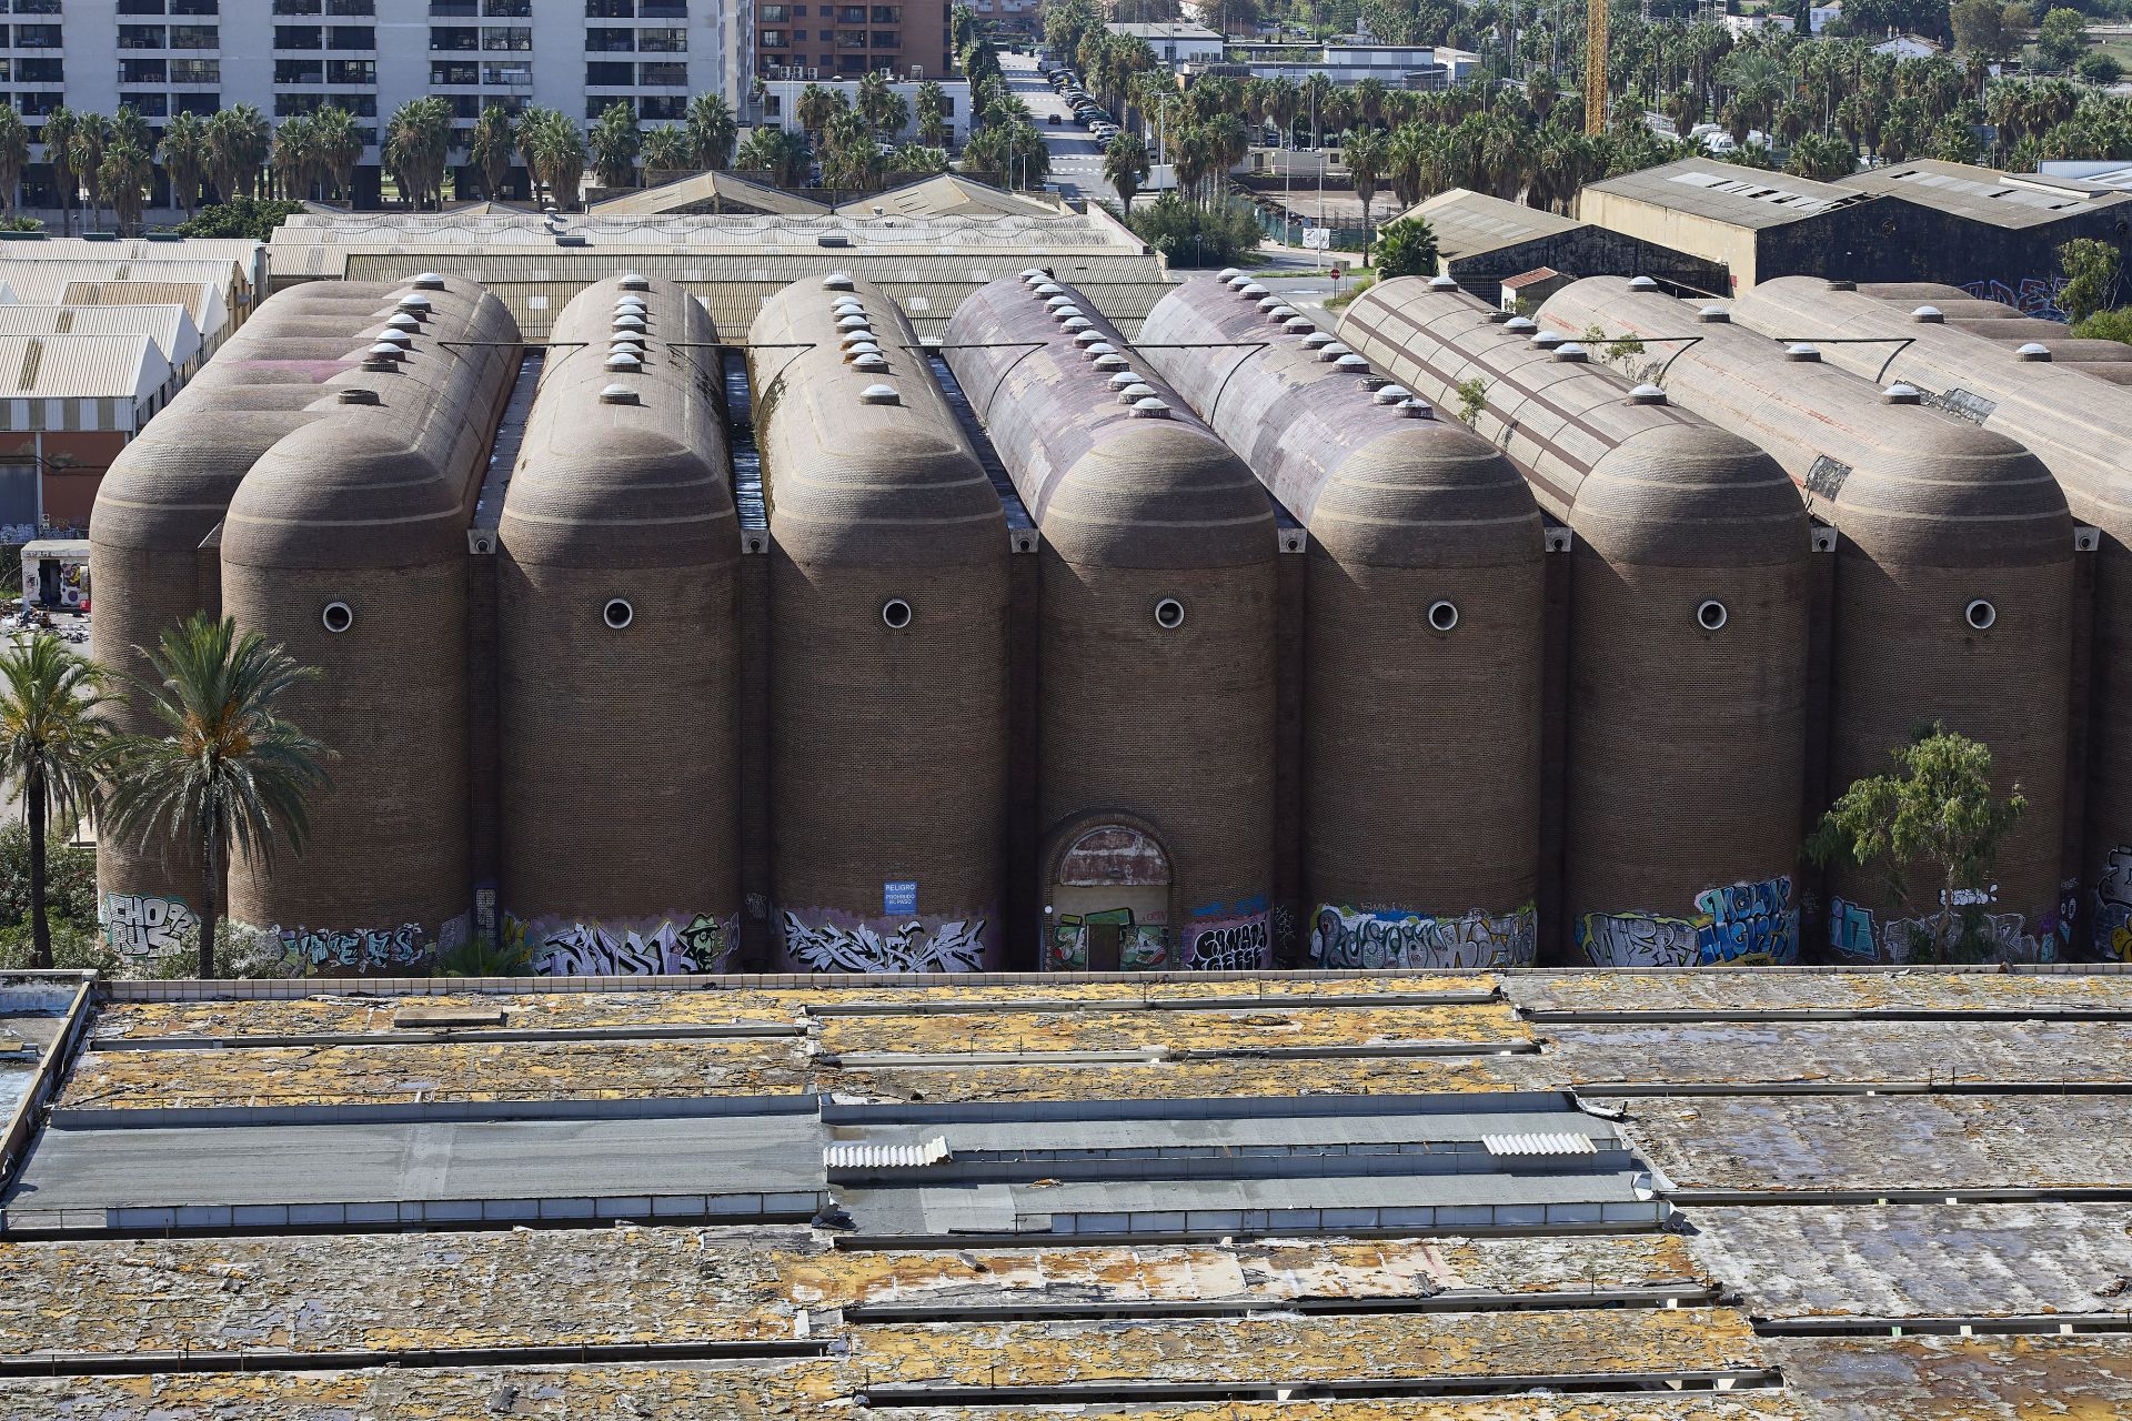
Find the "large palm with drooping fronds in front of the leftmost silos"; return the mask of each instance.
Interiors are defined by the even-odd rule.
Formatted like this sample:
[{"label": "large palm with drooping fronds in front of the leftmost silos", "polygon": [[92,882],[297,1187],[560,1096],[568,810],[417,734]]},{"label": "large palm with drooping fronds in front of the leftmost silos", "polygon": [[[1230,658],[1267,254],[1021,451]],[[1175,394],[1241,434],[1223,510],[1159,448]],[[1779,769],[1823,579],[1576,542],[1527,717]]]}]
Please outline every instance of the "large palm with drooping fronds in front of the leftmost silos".
[{"label": "large palm with drooping fronds in front of the leftmost silos", "polygon": [[183,844],[200,867],[200,976],[215,974],[215,925],[230,854],[264,867],[277,839],[303,852],[305,799],[330,784],[322,744],[277,714],[288,690],[318,680],[258,633],[205,611],[139,650],[160,688],[149,707],[164,735],[128,735],[111,756],[104,833],[145,846]]}]

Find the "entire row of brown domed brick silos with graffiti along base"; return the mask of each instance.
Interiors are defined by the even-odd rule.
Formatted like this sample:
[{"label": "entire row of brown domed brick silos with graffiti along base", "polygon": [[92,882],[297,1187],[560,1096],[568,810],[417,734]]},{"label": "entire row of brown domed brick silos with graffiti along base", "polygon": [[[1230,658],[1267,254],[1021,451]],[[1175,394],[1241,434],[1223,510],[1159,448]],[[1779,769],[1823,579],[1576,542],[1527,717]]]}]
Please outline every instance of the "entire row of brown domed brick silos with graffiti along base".
[{"label": "entire row of brown domed brick silos with graffiti along base", "polygon": [[[113,464],[96,639],[209,607],[324,669],[309,850],[228,891],[292,974],[1932,961],[1799,861],[1927,720],[2030,801],[1993,954],[2115,959],[2104,345],[1806,277],[1328,330],[1226,273],[1128,337],[1030,266],[921,337],[844,271],[746,330],[627,273],[544,343],[313,281]],[[98,878],[179,950],[196,865]]]}]

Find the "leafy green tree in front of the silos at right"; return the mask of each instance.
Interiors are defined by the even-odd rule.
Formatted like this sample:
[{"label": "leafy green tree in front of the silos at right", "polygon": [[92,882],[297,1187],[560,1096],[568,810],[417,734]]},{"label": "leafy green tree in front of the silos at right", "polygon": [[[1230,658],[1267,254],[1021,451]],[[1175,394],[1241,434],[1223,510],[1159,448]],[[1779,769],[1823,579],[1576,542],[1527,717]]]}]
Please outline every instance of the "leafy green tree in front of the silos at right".
[{"label": "leafy green tree in front of the silos at right", "polygon": [[[1932,920],[1932,950],[1955,944],[1964,903],[1989,891],[2000,839],[2028,810],[2021,786],[1991,793],[1991,750],[1934,722],[1889,752],[1895,773],[1853,780],[1821,816],[1806,856],[1816,865],[1878,865],[1895,903]],[[1912,901],[1912,873],[1929,873],[1938,903]],[[1964,937],[1974,935],[1974,922]]]}]

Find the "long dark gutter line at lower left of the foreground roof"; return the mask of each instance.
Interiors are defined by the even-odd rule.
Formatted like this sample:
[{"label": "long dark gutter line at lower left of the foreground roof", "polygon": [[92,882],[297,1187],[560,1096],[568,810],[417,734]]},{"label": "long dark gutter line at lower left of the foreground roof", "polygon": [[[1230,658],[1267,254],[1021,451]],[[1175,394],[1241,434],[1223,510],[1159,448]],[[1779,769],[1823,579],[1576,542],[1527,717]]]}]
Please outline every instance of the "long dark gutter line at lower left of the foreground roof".
[{"label": "long dark gutter line at lower left of the foreground roof", "polygon": [[718,1361],[825,1357],[827,1342],[584,1342],[574,1346],[435,1346],[414,1351],[205,1351],[21,1353],[0,1357],[0,1376],[147,1376],[215,1372],[339,1372],[354,1368],[571,1366],[591,1361]]}]

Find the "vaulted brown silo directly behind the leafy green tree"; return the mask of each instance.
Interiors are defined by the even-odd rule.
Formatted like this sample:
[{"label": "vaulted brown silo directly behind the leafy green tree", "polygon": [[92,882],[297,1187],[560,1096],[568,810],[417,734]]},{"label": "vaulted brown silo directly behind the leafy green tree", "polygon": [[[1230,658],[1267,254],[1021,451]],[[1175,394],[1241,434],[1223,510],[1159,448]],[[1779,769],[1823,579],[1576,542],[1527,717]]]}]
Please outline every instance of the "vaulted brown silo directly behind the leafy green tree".
[{"label": "vaulted brown silo directly behind the leafy green tree", "polygon": [[[1887,769],[1934,720],[1991,746],[2000,788],[2030,812],[1998,854],[1987,908],[2000,957],[2055,950],[2072,675],[2072,516],[2051,471],[2013,439],[1876,388],[1810,343],[1780,343],[1725,311],[1622,277],[1576,281],[1539,309],[1629,379],[1663,366],[1665,392],[1761,445],[1834,524],[1829,773],[1834,799]],[[2021,695],[2008,695],[2019,686]],[[1923,916],[1878,869],[1829,871],[1810,952],[1827,961],[1932,959]],[[1929,916],[1929,914],[1927,914]]]}]

